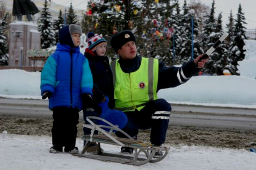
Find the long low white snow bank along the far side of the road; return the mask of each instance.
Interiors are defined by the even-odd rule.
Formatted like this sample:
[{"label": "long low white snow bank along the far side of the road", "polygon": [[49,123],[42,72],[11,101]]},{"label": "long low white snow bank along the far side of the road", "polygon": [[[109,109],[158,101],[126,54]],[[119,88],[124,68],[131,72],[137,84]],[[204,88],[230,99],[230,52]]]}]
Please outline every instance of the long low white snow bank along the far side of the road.
[{"label": "long low white snow bank along the far side of the road", "polygon": [[[40,72],[0,70],[0,97],[41,99]],[[256,80],[241,76],[196,76],[178,87],[162,89],[170,103],[256,108]]]}]

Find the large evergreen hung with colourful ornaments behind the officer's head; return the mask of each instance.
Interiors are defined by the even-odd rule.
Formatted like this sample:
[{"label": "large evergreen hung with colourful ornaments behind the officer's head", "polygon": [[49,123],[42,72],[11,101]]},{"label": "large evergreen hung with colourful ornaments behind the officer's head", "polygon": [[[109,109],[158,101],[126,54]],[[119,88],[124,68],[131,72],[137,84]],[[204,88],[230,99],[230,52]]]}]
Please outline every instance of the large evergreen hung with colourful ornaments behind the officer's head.
[{"label": "large evergreen hung with colourful ornaments behind the officer's head", "polygon": [[[174,0],[110,1],[94,0],[88,2],[87,15],[82,21],[84,32],[102,34],[106,40],[124,29],[132,30],[136,36],[138,53],[148,57],[164,57],[171,61],[172,50],[166,30],[170,28],[170,11]],[[87,26],[90,23],[94,28]],[[109,47],[107,55],[118,57]]]}]

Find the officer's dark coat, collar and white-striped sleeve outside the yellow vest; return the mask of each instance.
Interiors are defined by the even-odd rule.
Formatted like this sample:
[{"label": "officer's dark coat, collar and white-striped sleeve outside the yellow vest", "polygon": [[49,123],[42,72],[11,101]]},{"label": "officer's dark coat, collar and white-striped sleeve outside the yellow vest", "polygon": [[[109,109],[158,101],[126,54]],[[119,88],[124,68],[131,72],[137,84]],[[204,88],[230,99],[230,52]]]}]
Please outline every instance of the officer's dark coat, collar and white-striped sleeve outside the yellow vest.
[{"label": "officer's dark coat, collar and white-striped sleeve outside the yellow vest", "polygon": [[[120,57],[118,62],[124,73],[132,73],[140,68],[141,57],[136,56],[128,60]],[[198,70],[194,61],[184,63],[182,67],[167,67],[163,61],[159,60],[157,91],[186,83]]]}]

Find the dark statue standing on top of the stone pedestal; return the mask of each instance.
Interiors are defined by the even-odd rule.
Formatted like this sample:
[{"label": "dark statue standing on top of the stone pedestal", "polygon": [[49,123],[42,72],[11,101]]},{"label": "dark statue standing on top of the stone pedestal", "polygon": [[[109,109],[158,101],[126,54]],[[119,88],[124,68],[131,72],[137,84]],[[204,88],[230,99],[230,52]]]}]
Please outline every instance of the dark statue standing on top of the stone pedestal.
[{"label": "dark statue standing on top of the stone pedestal", "polygon": [[39,10],[30,0],[14,0],[12,6],[12,15],[17,16],[18,21],[22,21],[22,16],[26,15],[28,21],[32,21],[32,15],[38,13]]}]

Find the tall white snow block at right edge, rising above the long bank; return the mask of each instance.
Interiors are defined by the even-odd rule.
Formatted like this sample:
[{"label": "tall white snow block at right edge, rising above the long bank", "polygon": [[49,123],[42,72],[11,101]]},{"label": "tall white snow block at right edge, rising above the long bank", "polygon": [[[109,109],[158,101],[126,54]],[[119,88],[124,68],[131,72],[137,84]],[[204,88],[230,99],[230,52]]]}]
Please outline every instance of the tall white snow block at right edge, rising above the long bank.
[{"label": "tall white snow block at right edge, rising above the long bank", "polygon": [[256,79],[256,40],[244,40],[244,60],[238,61],[240,76]]}]

